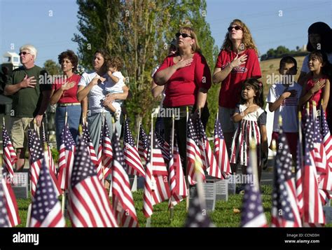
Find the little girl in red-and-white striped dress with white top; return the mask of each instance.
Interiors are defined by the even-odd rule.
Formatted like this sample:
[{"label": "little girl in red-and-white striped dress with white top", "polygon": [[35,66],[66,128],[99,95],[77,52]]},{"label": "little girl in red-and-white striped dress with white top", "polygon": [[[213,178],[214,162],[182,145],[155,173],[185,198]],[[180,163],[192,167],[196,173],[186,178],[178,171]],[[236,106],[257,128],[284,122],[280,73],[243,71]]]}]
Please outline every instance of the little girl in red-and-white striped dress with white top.
[{"label": "little girl in red-and-white striped dress with white top", "polygon": [[[242,167],[242,174],[247,174],[249,162],[249,144],[251,138],[256,140],[258,159],[258,179],[261,180],[261,165],[268,160],[268,137],[266,134],[266,113],[263,107],[263,84],[256,78],[248,78],[242,85],[240,105],[235,109],[232,120],[237,124],[230,163],[233,173],[237,165]],[[262,164],[263,163],[263,164]]]}]

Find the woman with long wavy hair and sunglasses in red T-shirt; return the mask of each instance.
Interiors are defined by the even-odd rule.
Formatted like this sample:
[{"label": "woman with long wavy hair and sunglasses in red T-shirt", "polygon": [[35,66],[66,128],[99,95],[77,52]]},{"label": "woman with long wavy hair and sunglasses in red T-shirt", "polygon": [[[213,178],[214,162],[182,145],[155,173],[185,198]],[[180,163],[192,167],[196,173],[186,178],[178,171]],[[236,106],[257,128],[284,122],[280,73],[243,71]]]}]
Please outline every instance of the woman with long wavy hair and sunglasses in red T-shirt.
[{"label": "woman with long wavy hair and sunglasses in red T-shirt", "polygon": [[258,51],[247,25],[235,19],[228,27],[212,77],[214,83],[221,83],[219,120],[228,153],[235,131],[231,117],[240,101],[242,83],[247,78],[261,78]]}]

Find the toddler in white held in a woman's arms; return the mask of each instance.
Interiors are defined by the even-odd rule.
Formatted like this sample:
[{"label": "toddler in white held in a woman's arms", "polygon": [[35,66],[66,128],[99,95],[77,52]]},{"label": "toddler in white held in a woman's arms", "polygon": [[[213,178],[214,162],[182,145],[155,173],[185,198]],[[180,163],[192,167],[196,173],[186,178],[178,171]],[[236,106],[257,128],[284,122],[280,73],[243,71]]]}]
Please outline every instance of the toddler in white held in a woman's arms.
[{"label": "toddler in white held in a woman's arms", "polygon": [[[106,88],[108,94],[118,94],[123,93],[123,86],[125,86],[125,82],[123,74],[121,74],[121,60],[119,57],[112,57],[109,62],[107,62],[108,71],[106,74]],[[113,102],[107,105],[107,108],[114,113],[114,118],[116,120],[120,119],[121,114],[121,106],[123,104],[123,100],[114,100]]]}]

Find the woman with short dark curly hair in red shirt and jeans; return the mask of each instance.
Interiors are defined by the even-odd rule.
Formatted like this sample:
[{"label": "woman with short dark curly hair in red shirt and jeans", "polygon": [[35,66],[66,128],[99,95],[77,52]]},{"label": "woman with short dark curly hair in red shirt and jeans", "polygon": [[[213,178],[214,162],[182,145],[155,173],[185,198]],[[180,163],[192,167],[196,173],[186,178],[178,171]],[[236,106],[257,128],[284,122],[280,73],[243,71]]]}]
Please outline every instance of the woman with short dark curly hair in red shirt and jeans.
[{"label": "woman with short dark curly hair in red shirt and jeans", "polygon": [[67,111],[69,131],[76,141],[78,125],[81,119],[81,103],[78,102],[76,92],[81,76],[74,74],[77,69],[78,57],[71,50],[58,55],[63,71],[62,78],[57,78],[52,85],[50,104],[57,104],[55,113],[55,130],[57,135],[57,150],[60,149],[61,134],[64,128],[64,119]]}]

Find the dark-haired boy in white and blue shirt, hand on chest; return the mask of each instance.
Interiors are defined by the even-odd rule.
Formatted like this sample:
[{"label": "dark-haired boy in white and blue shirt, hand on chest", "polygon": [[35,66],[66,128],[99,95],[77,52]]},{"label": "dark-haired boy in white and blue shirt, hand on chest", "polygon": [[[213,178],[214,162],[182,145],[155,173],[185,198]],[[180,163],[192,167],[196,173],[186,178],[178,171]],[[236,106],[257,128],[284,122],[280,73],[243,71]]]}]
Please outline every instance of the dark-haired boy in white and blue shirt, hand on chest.
[{"label": "dark-haired boy in white and blue shirt, hand on chest", "polygon": [[274,113],[272,139],[277,141],[279,133],[279,116],[286,134],[293,160],[296,160],[298,142],[298,101],[302,88],[293,79],[297,72],[297,62],[293,57],[282,57],[279,64],[280,83],[275,83],[269,90],[266,102]]}]

